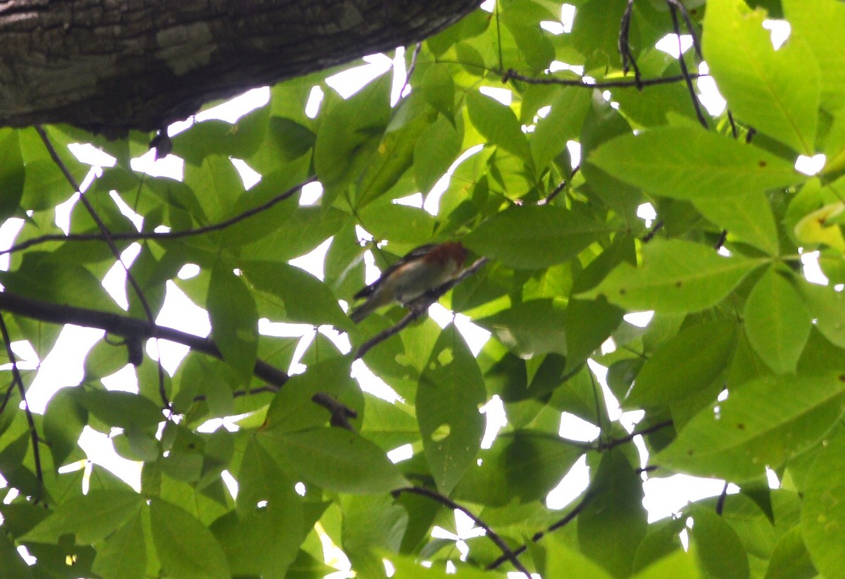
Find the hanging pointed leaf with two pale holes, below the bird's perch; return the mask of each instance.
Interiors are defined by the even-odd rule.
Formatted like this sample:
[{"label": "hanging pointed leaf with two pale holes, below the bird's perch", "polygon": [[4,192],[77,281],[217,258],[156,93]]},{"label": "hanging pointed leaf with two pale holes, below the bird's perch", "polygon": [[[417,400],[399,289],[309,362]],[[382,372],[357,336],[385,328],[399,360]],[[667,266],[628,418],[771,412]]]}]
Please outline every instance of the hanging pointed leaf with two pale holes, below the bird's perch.
[{"label": "hanging pointed leaf with two pale holes, below the bird's perch", "polygon": [[417,390],[423,450],[440,493],[448,495],[475,460],[484,434],[485,401],[476,359],[455,328],[440,333]]}]

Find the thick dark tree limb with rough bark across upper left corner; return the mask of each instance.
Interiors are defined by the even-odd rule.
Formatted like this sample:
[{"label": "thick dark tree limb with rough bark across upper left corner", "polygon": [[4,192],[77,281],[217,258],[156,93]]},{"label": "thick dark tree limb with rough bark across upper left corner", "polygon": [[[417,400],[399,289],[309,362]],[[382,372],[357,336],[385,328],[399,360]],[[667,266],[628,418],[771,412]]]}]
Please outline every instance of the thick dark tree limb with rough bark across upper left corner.
[{"label": "thick dark tree limb with rough bark across upper left corner", "polygon": [[0,0],[0,125],[154,130],[392,50],[478,0]]}]

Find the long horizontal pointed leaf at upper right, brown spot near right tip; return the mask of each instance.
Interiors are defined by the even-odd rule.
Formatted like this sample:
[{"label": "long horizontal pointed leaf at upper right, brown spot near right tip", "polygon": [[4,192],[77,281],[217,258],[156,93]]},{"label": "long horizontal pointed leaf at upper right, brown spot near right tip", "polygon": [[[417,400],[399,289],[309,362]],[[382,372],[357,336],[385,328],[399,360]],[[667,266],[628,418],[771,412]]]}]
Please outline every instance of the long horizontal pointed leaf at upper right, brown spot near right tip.
[{"label": "long horizontal pointed leaf at upper right, brown spot near right tip", "polygon": [[806,180],[788,161],[701,128],[650,128],[624,134],[587,159],[625,183],[675,199],[722,199]]}]

